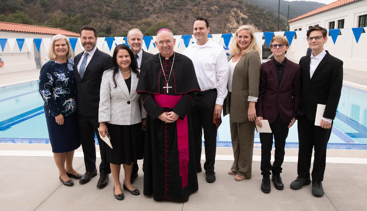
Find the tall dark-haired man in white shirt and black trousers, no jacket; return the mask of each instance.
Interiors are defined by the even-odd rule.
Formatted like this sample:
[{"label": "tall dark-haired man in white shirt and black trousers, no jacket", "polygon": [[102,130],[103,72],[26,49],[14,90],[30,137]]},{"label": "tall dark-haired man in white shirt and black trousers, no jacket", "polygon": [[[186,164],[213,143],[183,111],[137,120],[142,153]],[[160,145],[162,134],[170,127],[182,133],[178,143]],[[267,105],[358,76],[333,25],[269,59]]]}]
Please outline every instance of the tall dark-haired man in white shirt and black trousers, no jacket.
[{"label": "tall dark-haired man in white shirt and black trousers, no jacket", "polygon": [[220,117],[223,101],[227,96],[229,66],[223,47],[208,39],[209,23],[204,18],[194,22],[194,37],[196,43],[184,50],[184,55],[194,63],[196,77],[202,92],[195,94],[191,108],[193,136],[195,143],[196,170],[202,171],[200,158],[202,151],[202,131],[204,129],[204,144],[206,162],[206,182],[215,182],[215,152],[217,128],[213,123],[213,114]]}]

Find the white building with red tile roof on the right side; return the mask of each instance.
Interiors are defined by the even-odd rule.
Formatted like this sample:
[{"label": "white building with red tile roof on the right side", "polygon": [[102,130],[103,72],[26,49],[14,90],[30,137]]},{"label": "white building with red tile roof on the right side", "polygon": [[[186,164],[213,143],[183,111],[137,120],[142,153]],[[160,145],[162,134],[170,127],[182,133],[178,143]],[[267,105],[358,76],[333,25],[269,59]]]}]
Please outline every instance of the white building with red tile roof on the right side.
[{"label": "white building with red tile roof on the right side", "polygon": [[[367,0],[336,0],[311,12],[294,18],[289,23],[289,31],[296,31],[295,41],[287,51],[287,58],[298,61],[306,54],[308,42],[306,31],[312,26],[321,26],[339,31],[337,37],[327,33],[324,49],[343,60],[344,69],[366,70],[367,63]],[[359,28],[359,41],[354,31]]]}]

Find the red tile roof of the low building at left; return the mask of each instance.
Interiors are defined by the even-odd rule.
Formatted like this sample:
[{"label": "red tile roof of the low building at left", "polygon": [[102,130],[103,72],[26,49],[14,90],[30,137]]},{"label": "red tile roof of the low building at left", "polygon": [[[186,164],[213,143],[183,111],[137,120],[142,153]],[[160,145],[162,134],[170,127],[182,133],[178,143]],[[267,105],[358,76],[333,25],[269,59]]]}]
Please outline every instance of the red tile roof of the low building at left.
[{"label": "red tile roof of the low building at left", "polygon": [[79,37],[80,34],[67,31],[60,28],[51,28],[45,26],[37,25],[26,25],[20,23],[7,23],[0,22],[0,31],[17,31],[17,32],[28,32],[28,33],[38,33],[38,34],[62,34],[66,36]]}]

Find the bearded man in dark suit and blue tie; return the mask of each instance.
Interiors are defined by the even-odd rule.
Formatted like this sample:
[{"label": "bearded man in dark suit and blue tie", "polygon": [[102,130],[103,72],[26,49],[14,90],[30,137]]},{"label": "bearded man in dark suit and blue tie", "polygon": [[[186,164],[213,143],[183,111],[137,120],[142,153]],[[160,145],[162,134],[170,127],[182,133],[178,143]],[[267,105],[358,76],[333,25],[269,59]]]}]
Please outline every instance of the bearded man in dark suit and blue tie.
[{"label": "bearded man in dark suit and blue tie", "polygon": [[[85,184],[97,175],[94,134],[98,134],[99,126],[99,89],[103,72],[112,68],[112,57],[95,47],[97,35],[93,26],[83,26],[80,31],[84,51],[74,58],[74,75],[78,99],[78,126],[86,166],[86,173],[79,183]],[[83,65],[85,57],[87,57],[86,64]],[[84,71],[82,70],[83,66],[85,67]],[[106,147],[108,146],[99,138],[99,135],[97,135],[97,139],[102,160],[99,165],[100,177],[97,187],[104,188],[108,184],[111,173],[110,164],[106,162]]]}]

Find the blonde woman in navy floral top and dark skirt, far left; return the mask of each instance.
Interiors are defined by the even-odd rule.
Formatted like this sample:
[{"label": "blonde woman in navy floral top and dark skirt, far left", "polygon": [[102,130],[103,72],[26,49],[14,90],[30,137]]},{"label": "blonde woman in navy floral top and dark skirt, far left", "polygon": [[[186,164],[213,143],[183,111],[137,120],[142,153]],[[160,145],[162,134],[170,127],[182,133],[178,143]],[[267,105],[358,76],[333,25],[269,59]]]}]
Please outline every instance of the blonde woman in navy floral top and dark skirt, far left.
[{"label": "blonde woman in navy floral top and dark skirt, far left", "polygon": [[59,179],[72,186],[71,178],[83,175],[72,167],[74,150],[80,146],[76,114],[76,87],[74,61],[68,38],[55,35],[51,39],[47,56],[50,59],[41,68],[40,93],[45,101],[44,109],[48,136],[53,157],[59,169]]}]

